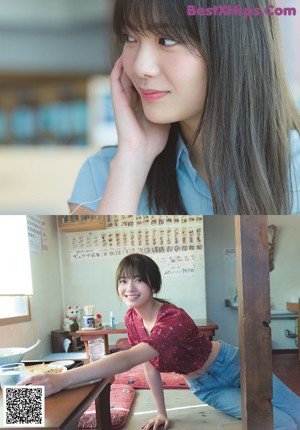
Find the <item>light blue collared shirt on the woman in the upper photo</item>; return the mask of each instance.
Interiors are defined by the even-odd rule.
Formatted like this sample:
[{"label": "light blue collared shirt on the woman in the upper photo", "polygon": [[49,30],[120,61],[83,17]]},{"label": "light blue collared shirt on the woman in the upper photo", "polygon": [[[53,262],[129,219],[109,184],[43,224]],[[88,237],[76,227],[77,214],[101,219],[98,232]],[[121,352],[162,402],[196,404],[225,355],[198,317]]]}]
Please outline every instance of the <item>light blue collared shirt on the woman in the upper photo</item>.
[{"label": "light blue collared shirt on the woman in the upper photo", "polygon": [[[293,195],[293,214],[300,214],[300,138],[291,132],[292,166],[291,193]],[[117,147],[106,147],[92,155],[83,164],[76,179],[70,204],[79,205],[91,202],[102,196],[109,175],[109,166],[117,152]],[[188,150],[180,138],[177,142],[176,171],[179,190],[188,214],[213,215],[210,190],[205,181],[192,166]],[[96,211],[99,200],[85,203],[84,206]],[[148,215],[147,189],[144,188],[138,206],[139,215]]]}]

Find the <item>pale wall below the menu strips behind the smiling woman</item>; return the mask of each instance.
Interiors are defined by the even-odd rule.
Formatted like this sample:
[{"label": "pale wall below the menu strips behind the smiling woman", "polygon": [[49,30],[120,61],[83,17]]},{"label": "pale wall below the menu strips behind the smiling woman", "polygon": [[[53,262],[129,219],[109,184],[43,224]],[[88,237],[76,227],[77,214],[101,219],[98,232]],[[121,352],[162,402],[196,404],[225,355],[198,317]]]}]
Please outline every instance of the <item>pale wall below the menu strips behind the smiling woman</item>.
[{"label": "pale wall below the menu strips behind the smiling woman", "polygon": [[[123,232],[123,228],[121,231]],[[136,232],[136,228],[130,228]],[[112,237],[120,230],[106,229]],[[115,271],[120,260],[125,256],[103,257],[84,262],[71,262],[70,250],[72,240],[88,237],[91,233],[60,232],[61,266],[64,291],[64,307],[68,305],[95,305],[95,312],[101,313],[103,322],[109,322],[109,312],[112,310],[116,320],[121,322],[126,313],[115,288]],[[101,234],[93,232],[93,234]],[[114,240],[114,239],[113,239]],[[138,243],[136,241],[136,248]],[[204,257],[201,252],[193,253],[195,258],[195,273],[193,275],[176,275],[163,277],[161,290],[162,298],[170,300],[177,306],[183,307],[193,318],[206,317]],[[151,256],[155,259],[156,254]]]}]

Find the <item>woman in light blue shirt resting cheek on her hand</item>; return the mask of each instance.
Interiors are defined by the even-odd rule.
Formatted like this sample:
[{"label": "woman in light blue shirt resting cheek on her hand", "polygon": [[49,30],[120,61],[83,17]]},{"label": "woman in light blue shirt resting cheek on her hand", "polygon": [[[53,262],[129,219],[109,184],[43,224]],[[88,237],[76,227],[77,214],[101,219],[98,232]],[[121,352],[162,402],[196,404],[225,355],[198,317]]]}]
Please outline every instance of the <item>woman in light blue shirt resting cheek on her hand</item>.
[{"label": "woman in light blue shirt resting cheek on her hand", "polygon": [[116,0],[113,25],[118,146],[83,165],[71,212],[300,213],[299,115],[269,2]]}]

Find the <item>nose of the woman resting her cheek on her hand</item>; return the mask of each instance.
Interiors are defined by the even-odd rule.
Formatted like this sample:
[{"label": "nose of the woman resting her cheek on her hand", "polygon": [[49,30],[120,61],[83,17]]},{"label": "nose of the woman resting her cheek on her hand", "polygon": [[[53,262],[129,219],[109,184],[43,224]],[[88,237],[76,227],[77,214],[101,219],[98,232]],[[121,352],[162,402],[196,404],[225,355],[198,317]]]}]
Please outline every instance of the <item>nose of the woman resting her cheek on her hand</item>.
[{"label": "nose of the woman resting her cheek on her hand", "polygon": [[141,46],[134,61],[134,73],[139,78],[154,77],[159,74],[159,58],[155,49]]}]

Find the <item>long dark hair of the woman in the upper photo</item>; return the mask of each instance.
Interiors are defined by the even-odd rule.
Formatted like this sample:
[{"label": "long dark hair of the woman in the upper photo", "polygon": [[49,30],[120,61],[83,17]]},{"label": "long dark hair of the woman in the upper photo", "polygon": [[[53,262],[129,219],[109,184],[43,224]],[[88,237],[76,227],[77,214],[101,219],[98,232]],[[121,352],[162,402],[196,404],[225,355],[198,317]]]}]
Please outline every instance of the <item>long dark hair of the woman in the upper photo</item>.
[{"label": "long dark hair of the woman in the upper photo", "polygon": [[[242,8],[263,10],[267,0],[241,0]],[[235,6],[235,0],[116,0],[116,48],[124,29],[170,37],[200,54],[207,66],[201,145],[215,214],[288,214],[290,132],[300,131],[289,94],[276,16],[188,16],[187,6]],[[157,30],[160,24],[160,30]],[[176,175],[178,124],[147,178],[154,213],[186,213]]]}]

